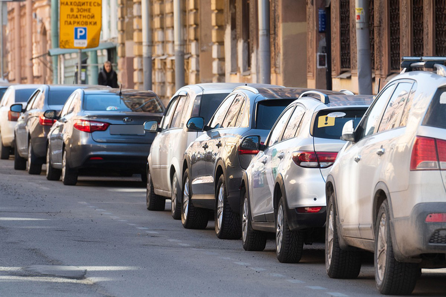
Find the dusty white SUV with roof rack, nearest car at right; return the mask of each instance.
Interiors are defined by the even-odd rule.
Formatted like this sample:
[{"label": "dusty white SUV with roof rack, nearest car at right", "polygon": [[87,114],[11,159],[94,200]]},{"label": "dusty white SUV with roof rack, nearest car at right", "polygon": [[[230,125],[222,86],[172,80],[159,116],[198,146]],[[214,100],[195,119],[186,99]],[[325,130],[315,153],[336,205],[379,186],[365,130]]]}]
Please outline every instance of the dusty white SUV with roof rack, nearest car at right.
[{"label": "dusty white SUV with roof rack, nearest car at right", "polygon": [[[382,294],[410,294],[421,268],[446,267],[446,62],[403,58],[354,130],[345,123],[326,184],[326,268],[355,278],[374,252]],[[414,64],[415,63],[415,64]],[[411,71],[412,67],[435,72]]]}]

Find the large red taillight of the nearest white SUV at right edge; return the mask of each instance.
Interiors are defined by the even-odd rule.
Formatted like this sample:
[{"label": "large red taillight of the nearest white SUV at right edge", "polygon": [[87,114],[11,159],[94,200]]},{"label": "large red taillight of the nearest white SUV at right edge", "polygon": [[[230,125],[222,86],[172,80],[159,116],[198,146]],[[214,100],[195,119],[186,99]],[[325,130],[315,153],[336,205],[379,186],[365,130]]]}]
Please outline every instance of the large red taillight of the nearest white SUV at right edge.
[{"label": "large red taillight of the nearest white SUV at right edge", "polygon": [[446,170],[446,141],[417,136],[412,148],[410,170]]}]

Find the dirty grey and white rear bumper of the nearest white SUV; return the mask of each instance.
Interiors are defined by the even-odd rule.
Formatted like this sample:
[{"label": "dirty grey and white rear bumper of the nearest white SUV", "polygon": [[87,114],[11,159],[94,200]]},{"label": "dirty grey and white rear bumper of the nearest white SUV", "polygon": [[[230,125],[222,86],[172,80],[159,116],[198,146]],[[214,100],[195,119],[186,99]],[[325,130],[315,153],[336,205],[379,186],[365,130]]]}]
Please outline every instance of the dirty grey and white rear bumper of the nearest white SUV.
[{"label": "dirty grey and white rear bumper of the nearest white SUV", "polygon": [[446,253],[446,222],[426,222],[430,213],[446,213],[446,202],[419,203],[410,216],[393,218],[392,244],[397,247],[397,259],[423,253]]}]

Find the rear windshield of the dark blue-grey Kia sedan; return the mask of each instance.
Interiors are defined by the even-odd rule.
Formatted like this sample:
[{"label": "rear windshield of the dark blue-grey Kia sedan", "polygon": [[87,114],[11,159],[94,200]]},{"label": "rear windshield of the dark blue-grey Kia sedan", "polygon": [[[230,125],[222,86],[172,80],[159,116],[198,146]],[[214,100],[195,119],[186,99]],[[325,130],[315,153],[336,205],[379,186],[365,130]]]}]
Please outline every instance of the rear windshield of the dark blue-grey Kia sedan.
[{"label": "rear windshield of the dark blue-grey Kia sedan", "polygon": [[83,108],[99,111],[164,112],[163,104],[157,97],[125,94],[121,97],[115,94],[86,95]]}]

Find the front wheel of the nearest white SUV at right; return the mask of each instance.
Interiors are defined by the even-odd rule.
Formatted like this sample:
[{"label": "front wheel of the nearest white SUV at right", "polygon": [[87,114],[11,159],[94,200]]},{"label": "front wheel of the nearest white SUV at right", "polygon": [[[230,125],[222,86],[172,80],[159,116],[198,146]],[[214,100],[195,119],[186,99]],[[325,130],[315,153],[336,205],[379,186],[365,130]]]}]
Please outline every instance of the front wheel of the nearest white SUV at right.
[{"label": "front wheel of the nearest white SUV at right", "polygon": [[327,275],[335,279],[357,278],[361,271],[361,252],[359,250],[344,250],[339,246],[336,216],[335,194],[332,193],[327,204],[325,232],[325,268]]}]

